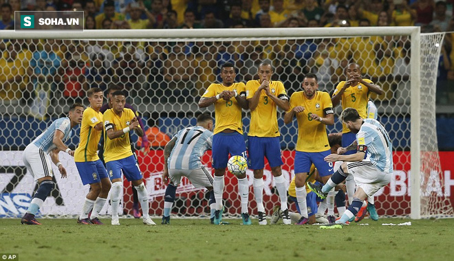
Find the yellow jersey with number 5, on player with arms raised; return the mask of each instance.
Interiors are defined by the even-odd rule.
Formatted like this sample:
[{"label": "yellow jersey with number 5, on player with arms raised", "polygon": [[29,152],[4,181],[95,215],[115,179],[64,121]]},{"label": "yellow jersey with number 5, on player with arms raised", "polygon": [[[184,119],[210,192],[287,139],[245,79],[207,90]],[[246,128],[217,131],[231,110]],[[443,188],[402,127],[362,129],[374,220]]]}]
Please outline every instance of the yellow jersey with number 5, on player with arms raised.
[{"label": "yellow jersey with number 5, on player with arms raised", "polygon": [[[365,82],[373,83],[371,80],[363,79]],[[340,82],[334,90],[333,97],[336,95],[342,87],[344,87],[345,81]],[[356,86],[350,86],[345,89],[344,93],[340,97],[340,104],[342,109],[352,107],[358,111],[360,117],[367,118],[367,102],[369,101],[369,88],[365,84],[358,83]],[[349,133],[350,130],[343,124],[342,133]]]}]

